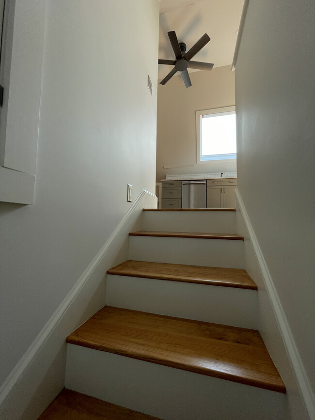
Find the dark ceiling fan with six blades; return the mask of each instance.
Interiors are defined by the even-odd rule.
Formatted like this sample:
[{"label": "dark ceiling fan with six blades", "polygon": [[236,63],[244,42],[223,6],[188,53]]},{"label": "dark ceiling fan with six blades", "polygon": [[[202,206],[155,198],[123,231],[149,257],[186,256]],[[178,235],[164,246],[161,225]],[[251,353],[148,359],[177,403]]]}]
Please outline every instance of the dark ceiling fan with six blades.
[{"label": "dark ceiling fan with six blades", "polygon": [[178,42],[175,31],[167,32],[171,45],[175,54],[176,60],[158,60],[159,64],[169,64],[174,65],[173,70],[160,82],[160,85],[165,85],[166,82],[170,80],[178,71],[181,72],[182,78],[184,80],[186,88],[191,86],[191,81],[189,78],[187,68],[195,68],[198,70],[212,70],[213,63],[210,62],[199,62],[191,61],[190,59],[205,47],[205,45],[210,41],[209,36],[205,33],[199,41],[192,46],[188,52],[186,52],[186,44],[183,42]]}]

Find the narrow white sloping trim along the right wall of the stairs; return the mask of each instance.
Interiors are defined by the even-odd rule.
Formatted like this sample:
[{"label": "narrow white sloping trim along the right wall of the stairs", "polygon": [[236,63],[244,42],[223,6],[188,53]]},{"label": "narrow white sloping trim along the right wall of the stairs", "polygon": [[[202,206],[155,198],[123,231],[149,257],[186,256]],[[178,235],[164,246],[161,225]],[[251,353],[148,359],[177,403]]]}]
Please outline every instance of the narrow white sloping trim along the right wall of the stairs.
[{"label": "narrow white sloping trim along the right wall of the stairs", "polygon": [[249,238],[252,243],[252,248],[254,250],[254,253],[256,255],[265,285],[266,290],[268,292],[268,296],[270,299],[271,306],[273,308],[273,311],[275,313],[278,326],[284,341],[284,346],[287,351],[288,357],[290,359],[293,372],[296,376],[296,380],[299,386],[299,391],[302,395],[304,404],[306,406],[308,415],[310,416],[310,419],[315,419],[315,396],[312,391],[310,382],[308,380],[307,374],[305,372],[305,368],[303,366],[302,360],[299,355],[299,350],[296,346],[296,343],[294,341],[290,326],[288,324],[288,321],[286,319],[284,309],[281,305],[279,296],[277,294],[277,291],[274,287],[274,283],[272,281],[272,278],[270,276],[268,266],[266,264],[266,261],[264,259],[262,250],[260,249],[259,243],[257,241],[256,235],[254,233],[254,230],[252,228],[251,220],[248,216],[248,213],[246,211],[246,207],[244,205],[244,202],[242,200],[242,197],[236,188],[235,191],[236,200],[239,205],[239,209],[241,212],[241,215],[244,219],[245,226],[249,233]]}]

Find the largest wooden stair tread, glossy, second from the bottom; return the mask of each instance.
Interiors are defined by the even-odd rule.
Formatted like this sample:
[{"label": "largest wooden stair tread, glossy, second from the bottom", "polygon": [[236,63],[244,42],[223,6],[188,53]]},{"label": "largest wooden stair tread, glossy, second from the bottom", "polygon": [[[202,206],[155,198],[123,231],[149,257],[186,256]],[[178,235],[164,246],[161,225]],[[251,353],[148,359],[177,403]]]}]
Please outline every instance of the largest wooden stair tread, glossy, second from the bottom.
[{"label": "largest wooden stair tread, glossy, second from the bottom", "polygon": [[286,392],[256,330],[105,306],[66,341]]}]

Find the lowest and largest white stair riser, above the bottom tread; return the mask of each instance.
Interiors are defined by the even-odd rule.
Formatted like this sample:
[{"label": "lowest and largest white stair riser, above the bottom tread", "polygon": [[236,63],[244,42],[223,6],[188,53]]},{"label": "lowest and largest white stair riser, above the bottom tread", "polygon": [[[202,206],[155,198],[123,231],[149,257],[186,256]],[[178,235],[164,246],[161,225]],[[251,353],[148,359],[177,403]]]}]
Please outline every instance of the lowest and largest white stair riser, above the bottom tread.
[{"label": "lowest and largest white stair riser, above the bottom tread", "polygon": [[285,420],[285,395],[67,344],[65,387],[163,420]]}]

